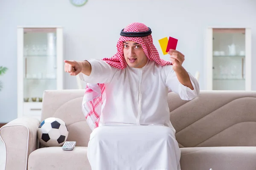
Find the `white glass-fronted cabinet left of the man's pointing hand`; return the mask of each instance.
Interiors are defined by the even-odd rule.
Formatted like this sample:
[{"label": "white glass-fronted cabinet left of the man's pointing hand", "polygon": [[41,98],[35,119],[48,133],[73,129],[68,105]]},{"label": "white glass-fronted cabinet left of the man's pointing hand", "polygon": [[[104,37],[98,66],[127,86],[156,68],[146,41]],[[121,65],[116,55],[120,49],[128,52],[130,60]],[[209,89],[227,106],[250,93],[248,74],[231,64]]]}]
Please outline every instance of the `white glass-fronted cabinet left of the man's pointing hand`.
[{"label": "white glass-fronted cabinet left of the man's pointing hand", "polygon": [[41,119],[45,90],[63,89],[63,30],[17,27],[17,117]]}]

